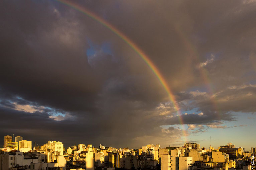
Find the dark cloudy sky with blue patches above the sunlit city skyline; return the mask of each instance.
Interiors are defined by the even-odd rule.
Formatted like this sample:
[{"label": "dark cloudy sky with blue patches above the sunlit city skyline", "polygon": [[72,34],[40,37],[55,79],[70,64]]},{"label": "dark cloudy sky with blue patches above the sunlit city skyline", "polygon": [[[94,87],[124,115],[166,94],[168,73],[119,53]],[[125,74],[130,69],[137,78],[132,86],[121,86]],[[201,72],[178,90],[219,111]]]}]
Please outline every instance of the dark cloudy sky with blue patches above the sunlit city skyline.
[{"label": "dark cloudy sky with blue patches above the sunlit city skyline", "polygon": [[[0,2],[0,146],[32,143],[139,148],[197,142],[256,147],[256,2]],[[180,115],[180,114],[181,115]],[[182,124],[182,125],[181,125]]]}]

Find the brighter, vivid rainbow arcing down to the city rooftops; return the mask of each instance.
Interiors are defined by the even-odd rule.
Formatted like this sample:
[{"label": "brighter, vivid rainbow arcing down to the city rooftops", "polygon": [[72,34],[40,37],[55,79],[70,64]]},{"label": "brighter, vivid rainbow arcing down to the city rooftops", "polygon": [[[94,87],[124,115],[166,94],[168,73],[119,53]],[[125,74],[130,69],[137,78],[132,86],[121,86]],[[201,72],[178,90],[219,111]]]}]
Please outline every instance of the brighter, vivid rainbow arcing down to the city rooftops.
[{"label": "brighter, vivid rainbow arcing down to the city rooftops", "polygon": [[[162,84],[163,88],[165,89],[166,93],[168,94],[168,97],[169,97],[170,101],[173,103],[173,106],[174,106],[175,110],[177,111],[177,116],[179,118],[179,122],[180,122],[181,127],[182,127],[181,130],[182,130],[183,136],[186,138],[187,134],[185,132],[184,122],[182,120],[182,116],[181,116],[181,113],[179,111],[179,107],[177,105],[175,96],[173,95],[170,88],[168,87],[168,84],[165,81],[164,77],[162,76],[160,71],[157,69],[157,67],[154,65],[154,63],[150,60],[150,58],[131,39],[129,39],[125,34],[123,34],[121,31],[119,31],[113,25],[106,22],[104,19],[97,16],[93,12],[89,11],[88,9],[86,9],[84,7],[79,6],[78,4],[75,4],[72,1],[68,1],[68,0],[56,0],[56,1],[58,1],[62,4],[65,4],[65,5],[73,8],[73,9],[76,9],[79,12],[82,12],[83,14],[87,15],[88,17],[94,19],[95,21],[99,22],[100,24],[102,24],[103,26],[105,26],[106,28],[111,30],[118,37],[120,37],[123,41],[125,41],[146,62],[146,64],[149,66],[149,68],[153,71],[153,73],[156,75],[157,79]],[[186,139],[185,139],[185,142],[186,142]]]}]

